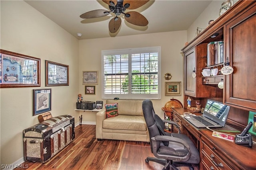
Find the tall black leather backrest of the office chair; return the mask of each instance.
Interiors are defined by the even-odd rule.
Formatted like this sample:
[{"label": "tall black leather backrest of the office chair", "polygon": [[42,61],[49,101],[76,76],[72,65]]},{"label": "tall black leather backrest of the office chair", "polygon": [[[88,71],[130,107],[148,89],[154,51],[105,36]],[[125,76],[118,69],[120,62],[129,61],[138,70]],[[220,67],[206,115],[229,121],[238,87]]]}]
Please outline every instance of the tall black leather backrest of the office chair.
[{"label": "tall black leather backrest of the office chair", "polygon": [[[162,119],[156,115],[154,111],[153,104],[151,100],[144,100],[142,102],[142,110],[143,110],[143,115],[148,127],[148,133],[150,137],[150,146],[152,145],[151,138],[155,137],[156,135],[165,135],[164,133],[164,122]],[[157,142],[157,149],[160,147],[160,144],[162,142]],[[168,146],[169,142],[164,141],[164,145]],[[151,151],[152,151],[152,146],[151,146]]]}]

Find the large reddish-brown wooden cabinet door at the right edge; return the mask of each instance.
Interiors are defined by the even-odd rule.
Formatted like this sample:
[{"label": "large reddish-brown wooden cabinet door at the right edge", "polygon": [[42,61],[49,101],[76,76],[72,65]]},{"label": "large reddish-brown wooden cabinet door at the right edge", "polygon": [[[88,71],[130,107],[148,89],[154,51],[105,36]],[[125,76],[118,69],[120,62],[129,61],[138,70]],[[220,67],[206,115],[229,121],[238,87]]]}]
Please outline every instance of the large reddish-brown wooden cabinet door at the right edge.
[{"label": "large reddish-brown wooden cabinet door at the right edge", "polygon": [[234,72],[225,76],[224,102],[256,110],[256,6],[225,26],[226,58]]}]

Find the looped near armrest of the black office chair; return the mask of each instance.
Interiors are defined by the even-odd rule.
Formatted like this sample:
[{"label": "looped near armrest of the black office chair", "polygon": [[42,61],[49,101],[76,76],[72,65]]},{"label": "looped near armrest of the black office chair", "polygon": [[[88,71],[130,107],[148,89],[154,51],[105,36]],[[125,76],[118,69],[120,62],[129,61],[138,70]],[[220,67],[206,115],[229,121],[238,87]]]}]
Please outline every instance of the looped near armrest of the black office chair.
[{"label": "looped near armrest of the black office chair", "polygon": [[[152,141],[152,147],[153,147],[153,154],[157,157],[157,158],[163,158],[163,159],[168,159],[168,160],[177,160],[177,161],[182,161],[182,162],[186,162],[191,155],[191,151],[190,151],[190,146],[188,145],[188,143],[180,138],[177,137],[173,137],[173,136],[162,136],[162,135],[157,135],[155,137],[151,138]],[[179,143],[181,145],[183,145],[186,149],[188,149],[188,154],[186,154],[185,156],[173,156],[173,155],[167,155],[167,154],[159,154],[158,153],[158,148],[157,146],[159,144],[157,144],[157,141],[169,141],[169,142],[174,142],[174,143]]]}]

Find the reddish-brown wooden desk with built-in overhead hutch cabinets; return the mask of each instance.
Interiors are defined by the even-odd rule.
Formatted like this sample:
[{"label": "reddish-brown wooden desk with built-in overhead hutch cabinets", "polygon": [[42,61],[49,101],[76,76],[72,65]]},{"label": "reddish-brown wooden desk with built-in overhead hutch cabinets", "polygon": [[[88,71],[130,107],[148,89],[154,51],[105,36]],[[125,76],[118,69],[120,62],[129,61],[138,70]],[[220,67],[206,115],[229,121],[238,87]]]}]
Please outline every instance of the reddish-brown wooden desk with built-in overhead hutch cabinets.
[{"label": "reddish-brown wooden desk with built-in overhead hutch cabinets", "polygon": [[[224,61],[207,66],[208,43],[214,41],[223,41]],[[187,109],[188,97],[191,98],[192,107],[196,106],[195,102],[200,102],[204,107],[210,98],[231,106],[224,129],[242,131],[248,123],[249,111],[256,112],[256,1],[236,2],[188,43],[182,52],[184,108],[174,108],[174,121],[181,126],[182,133],[186,134],[200,150],[200,170],[255,169],[252,164],[256,158],[255,144],[247,149],[234,142],[212,137],[212,131],[195,128],[181,115],[186,111],[193,113]],[[216,76],[203,77],[201,74],[205,68],[220,70],[228,63],[234,69],[230,75],[218,72]],[[224,89],[218,88],[218,82],[222,80]],[[253,140],[256,140],[255,136]],[[250,158],[241,155],[250,155]]]}]

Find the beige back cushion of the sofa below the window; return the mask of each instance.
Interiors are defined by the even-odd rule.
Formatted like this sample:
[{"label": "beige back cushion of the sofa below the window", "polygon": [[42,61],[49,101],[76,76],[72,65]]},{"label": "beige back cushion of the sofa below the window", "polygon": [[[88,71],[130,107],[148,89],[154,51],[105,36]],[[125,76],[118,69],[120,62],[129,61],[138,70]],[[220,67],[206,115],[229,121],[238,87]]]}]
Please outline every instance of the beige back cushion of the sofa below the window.
[{"label": "beige back cushion of the sofa below the window", "polygon": [[143,100],[107,100],[107,104],[118,103],[118,115],[143,116]]}]

